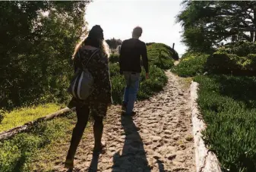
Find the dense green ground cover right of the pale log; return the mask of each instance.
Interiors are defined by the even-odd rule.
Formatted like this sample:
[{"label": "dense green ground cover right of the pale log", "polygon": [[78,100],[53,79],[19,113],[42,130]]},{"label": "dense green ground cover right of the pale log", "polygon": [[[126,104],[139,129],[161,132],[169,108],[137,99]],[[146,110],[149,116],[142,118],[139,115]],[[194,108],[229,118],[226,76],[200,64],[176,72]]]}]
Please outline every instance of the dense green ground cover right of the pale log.
[{"label": "dense green ground cover right of the pale log", "polygon": [[255,77],[195,77],[198,105],[207,124],[204,141],[223,171],[256,170]]}]

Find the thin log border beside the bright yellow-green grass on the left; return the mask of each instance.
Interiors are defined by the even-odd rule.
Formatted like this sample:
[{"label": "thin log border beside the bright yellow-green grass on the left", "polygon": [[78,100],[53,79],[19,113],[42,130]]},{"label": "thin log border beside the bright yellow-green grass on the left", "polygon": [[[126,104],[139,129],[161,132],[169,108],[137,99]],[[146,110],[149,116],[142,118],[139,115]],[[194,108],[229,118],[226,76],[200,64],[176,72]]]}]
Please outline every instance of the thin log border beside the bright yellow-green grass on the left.
[{"label": "thin log border beside the bright yellow-green grass on the left", "polygon": [[74,110],[74,108],[71,108],[71,109],[68,107],[62,108],[58,111],[55,111],[51,114],[46,115],[45,117],[40,117],[40,118],[37,118],[36,120],[27,122],[26,124],[24,124],[22,126],[18,126],[18,127],[12,128],[10,130],[6,130],[6,131],[0,133],[0,141],[3,139],[9,139],[12,136],[16,135],[17,133],[27,131],[30,129],[30,127],[32,127],[36,123],[40,123],[45,120],[52,120],[55,117],[62,116],[62,115],[67,114],[68,112],[73,111],[73,110]]}]

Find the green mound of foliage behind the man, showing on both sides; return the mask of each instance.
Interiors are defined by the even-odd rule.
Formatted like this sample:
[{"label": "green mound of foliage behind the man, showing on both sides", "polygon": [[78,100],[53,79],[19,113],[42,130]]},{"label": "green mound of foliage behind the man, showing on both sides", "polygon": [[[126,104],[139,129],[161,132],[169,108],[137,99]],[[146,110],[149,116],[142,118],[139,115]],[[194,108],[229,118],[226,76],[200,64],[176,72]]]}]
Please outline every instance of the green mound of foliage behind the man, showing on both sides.
[{"label": "green mound of foliage behind the man, showing on both sides", "polygon": [[[162,52],[161,55],[158,52]],[[150,61],[150,80],[145,80],[145,72],[141,73],[140,89],[137,95],[138,100],[148,99],[155,92],[163,89],[167,83],[166,74],[163,69],[172,67],[172,53],[169,46],[153,43],[147,46],[147,55]],[[111,55],[109,61],[110,76],[112,83],[112,99],[115,104],[122,103],[122,96],[125,89],[125,79],[119,73],[118,55]],[[161,60],[160,62],[158,62]]]}]

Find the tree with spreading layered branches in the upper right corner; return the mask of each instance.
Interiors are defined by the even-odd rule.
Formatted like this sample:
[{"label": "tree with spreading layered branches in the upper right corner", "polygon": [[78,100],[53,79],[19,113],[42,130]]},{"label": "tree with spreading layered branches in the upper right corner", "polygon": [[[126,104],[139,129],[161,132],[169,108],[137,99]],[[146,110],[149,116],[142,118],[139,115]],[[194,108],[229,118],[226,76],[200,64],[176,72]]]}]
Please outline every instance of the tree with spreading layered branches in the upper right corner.
[{"label": "tree with spreading layered branches in the upper right corner", "polygon": [[256,40],[256,2],[189,0],[182,5],[185,8],[176,19],[184,28],[183,42],[192,50],[210,50],[232,36]]}]

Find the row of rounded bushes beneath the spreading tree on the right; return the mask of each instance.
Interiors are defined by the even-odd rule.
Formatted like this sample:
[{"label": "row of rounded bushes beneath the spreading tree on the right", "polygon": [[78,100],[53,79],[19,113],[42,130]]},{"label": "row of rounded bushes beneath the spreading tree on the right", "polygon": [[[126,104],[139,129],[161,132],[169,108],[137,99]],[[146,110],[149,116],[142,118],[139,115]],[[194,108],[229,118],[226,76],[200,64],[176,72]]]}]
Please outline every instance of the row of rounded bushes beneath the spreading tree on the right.
[{"label": "row of rounded bushes beneath the spreading tree on the right", "polygon": [[226,73],[254,76],[256,74],[256,44],[235,42],[220,47],[213,55],[187,52],[172,71],[181,77],[192,77],[198,73]]}]

